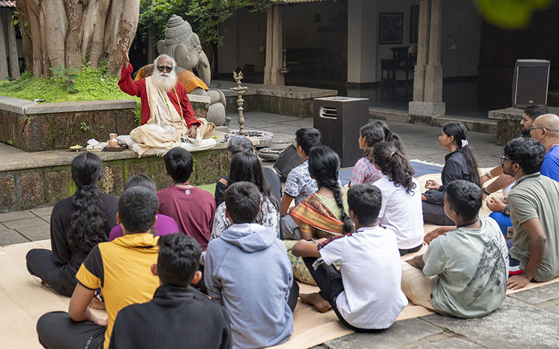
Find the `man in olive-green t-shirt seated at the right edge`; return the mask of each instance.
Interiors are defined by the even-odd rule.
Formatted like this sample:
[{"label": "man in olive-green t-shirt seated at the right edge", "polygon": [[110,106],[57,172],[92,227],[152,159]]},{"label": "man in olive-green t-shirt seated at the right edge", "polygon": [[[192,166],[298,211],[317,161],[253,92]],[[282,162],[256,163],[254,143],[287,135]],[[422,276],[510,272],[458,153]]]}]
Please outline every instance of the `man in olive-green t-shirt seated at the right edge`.
[{"label": "man in olive-green t-shirt seated at the right edge", "polygon": [[530,138],[515,138],[504,147],[503,172],[516,184],[509,193],[513,238],[508,288],[518,290],[533,279],[559,275],[559,183],[539,169],[546,147]]}]

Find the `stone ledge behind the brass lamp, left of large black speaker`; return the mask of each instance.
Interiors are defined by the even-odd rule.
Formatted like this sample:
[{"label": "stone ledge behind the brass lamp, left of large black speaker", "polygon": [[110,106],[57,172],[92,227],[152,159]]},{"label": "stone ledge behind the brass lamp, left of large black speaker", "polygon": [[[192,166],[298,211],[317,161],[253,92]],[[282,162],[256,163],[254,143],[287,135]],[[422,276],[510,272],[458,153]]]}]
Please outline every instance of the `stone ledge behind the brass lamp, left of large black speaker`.
[{"label": "stone ledge behind the brass lamp, left of large black speaker", "polygon": [[[212,80],[210,89],[219,89],[225,95],[226,112],[237,112],[237,94],[232,91],[235,82]],[[299,86],[277,86],[269,84],[242,84],[247,87],[242,99],[245,112],[270,112],[291,117],[312,117],[314,98],[336,96],[335,89],[312,89]]]}]

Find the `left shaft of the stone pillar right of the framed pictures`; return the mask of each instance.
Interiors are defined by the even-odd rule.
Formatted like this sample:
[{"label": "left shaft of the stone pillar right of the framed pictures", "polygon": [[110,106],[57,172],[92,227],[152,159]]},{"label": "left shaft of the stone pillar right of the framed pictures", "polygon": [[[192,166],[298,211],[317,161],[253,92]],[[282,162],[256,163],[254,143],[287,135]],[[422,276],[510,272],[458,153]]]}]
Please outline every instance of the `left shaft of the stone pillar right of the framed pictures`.
[{"label": "left shaft of the stone pillar right of the framed pictures", "polygon": [[417,63],[414,69],[414,101],[422,102],[425,93],[425,66],[429,47],[429,0],[419,2],[419,32],[417,38]]}]

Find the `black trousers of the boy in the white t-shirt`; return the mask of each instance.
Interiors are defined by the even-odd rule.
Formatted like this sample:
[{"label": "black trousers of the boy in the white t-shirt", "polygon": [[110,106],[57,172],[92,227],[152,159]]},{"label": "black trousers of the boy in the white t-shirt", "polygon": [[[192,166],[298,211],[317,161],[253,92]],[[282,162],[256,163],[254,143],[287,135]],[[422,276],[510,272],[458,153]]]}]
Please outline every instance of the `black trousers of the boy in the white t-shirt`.
[{"label": "black trousers of the boy in the white t-shirt", "polygon": [[326,263],[319,258],[303,257],[303,262],[309,269],[314,281],[320,288],[320,295],[326,299],[332,306],[337,319],[342,322],[342,325],[357,332],[379,332],[382,329],[361,329],[352,325],[342,318],[340,311],[337,310],[336,299],[337,296],[344,290],[342,283],[342,274],[333,265],[326,265]]}]

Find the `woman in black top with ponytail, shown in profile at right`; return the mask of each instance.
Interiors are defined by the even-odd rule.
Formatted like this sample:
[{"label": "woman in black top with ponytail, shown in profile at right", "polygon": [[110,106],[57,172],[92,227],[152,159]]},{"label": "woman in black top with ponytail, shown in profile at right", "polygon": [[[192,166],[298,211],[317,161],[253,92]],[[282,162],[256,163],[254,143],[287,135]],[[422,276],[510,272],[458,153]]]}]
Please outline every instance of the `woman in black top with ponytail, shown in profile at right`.
[{"label": "woman in black top with ponytail, shown in profile at right", "polygon": [[477,161],[466,140],[467,130],[458,121],[448,122],[442,126],[439,140],[441,147],[449,149],[444,156],[444,168],[441,172],[442,185],[437,181],[428,180],[422,195],[423,220],[437,225],[454,225],[454,222],[444,214],[444,193],[447,185],[456,179],[472,181],[481,188]]}]

